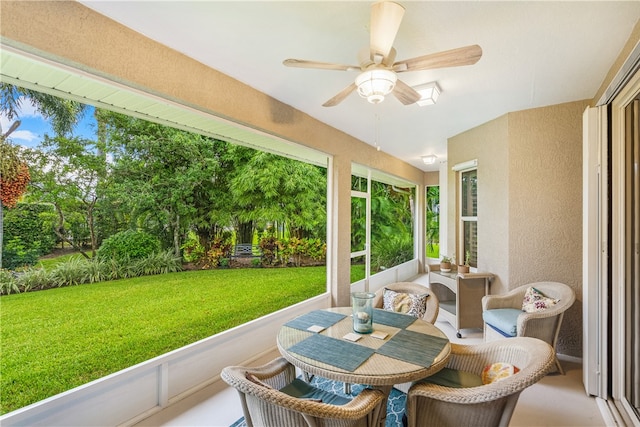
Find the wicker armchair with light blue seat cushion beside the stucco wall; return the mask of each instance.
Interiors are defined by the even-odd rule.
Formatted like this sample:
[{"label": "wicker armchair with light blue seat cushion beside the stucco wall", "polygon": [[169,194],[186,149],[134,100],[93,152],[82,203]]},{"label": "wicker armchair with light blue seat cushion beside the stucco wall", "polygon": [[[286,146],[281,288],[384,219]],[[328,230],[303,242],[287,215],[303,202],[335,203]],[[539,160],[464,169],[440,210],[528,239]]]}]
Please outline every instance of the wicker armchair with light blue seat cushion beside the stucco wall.
[{"label": "wicker armchair with light blue seat cushion beside the stucco wall", "polygon": [[[550,344],[555,352],[564,312],[573,305],[576,299],[573,289],[564,283],[536,282],[519,286],[503,295],[486,295],[482,298],[482,310],[483,312],[503,308],[521,310],[524,294],[530,286],[540,290],[548,297],[555,298],[558,300],[558,303],[544,311],[536,313],[526,313],[522,311],[517,314],[516,336],[541,339]],[[485,341],[494,341],[505,337],[507,336],[500,332],[499,329],[485,322]],[[556,356],[554,357],[558,372],[564,374],[560,361]]]}]

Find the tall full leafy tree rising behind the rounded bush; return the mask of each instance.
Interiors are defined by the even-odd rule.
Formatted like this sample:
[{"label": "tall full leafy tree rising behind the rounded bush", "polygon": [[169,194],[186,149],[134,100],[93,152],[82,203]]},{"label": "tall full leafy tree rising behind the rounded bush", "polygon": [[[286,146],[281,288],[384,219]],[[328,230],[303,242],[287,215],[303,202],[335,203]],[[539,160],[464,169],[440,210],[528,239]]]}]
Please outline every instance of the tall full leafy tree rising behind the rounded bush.
[{"label": "tall full leafy tree rising behind the rounded bush", "polygon": [[221,194],[214,191],[218,142],[119,113],[99,114],[113,155],[112,197],[179,255],[191,225],[204,223],[204,205]]}]

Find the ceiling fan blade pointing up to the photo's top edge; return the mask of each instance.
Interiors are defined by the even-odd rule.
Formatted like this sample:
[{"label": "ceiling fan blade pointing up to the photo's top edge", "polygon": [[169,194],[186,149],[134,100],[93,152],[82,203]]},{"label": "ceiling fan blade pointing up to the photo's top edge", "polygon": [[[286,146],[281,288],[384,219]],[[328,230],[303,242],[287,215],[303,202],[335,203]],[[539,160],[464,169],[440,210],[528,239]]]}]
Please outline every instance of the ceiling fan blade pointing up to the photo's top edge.
[{"label": "ceiling fan blade pointing up to the photo's top edge", "polygon": [[380,1],[371,6],[369,49],[374,62],[376,55],[382,55],[383,60],[389,56],[403,16],[404,7],[392,1]]}]

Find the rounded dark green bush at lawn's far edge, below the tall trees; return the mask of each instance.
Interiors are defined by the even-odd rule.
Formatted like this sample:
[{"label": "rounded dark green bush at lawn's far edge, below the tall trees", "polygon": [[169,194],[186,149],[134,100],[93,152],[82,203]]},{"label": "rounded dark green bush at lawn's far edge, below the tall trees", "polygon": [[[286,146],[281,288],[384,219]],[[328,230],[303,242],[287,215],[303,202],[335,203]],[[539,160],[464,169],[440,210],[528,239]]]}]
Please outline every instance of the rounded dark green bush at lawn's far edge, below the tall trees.
[{"label": "rounded dark green bush at lawn's far edge, below the tall trees", "polygon": [[97,252],[101,260],[127,261],[146,258],[160,250],[160,240],[144,231],[121,231],[102,242]]}]

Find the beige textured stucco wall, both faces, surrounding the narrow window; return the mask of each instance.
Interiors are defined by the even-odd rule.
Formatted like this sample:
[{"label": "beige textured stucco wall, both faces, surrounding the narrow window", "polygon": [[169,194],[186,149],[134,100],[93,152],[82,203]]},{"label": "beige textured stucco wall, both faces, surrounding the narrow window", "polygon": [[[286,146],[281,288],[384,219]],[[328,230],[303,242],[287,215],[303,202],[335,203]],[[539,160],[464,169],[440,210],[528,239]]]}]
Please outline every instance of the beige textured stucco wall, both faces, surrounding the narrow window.
[{"label": "beige textured stucco wall, both faces, surrounding the narrow window", "polygon": [[[451,167],[478,159],[478,267],[491,293],[536,281],[571,286],[558,351],[582,355],[582,113],[576,101],[506,114],[449,139]],[[451,187],[451,186],[450,186]],[[455,247],[456,193],[448,196]]]}]

